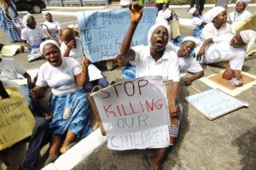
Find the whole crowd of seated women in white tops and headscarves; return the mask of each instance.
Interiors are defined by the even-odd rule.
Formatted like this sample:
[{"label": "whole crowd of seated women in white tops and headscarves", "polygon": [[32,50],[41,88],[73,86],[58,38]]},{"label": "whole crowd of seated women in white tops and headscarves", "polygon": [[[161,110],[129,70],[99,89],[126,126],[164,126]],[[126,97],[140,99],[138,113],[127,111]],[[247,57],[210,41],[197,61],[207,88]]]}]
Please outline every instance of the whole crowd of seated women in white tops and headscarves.
[{"label": "whole crowd of seated women in white tops and headscarves", "polygon": [[[49,122],[51,137],[49,158],[46,161],[48,164],[65,153],[79,139],[92,132],[89,122],[89,103],[83,91],[83,87],[89,82],[90,62],[83,55],[78,31],[68,27],[61,30],[60,24],[53,20],[52,15],[45,13],[46,21],[42,27],[37,26],[32,14],[26,14],[23,17],[25,28],[20,32],[15,26],[12,27],[13,22],[7,18],[8,10],[5,9],[11,5],[6,3],[9,1],[4,2],[1,0],[4,6],[0,13],[0,17],[3,18],[1,19],[3,31],[12,42],[24,42],[29,53],[38,49],[42,58],[46,60],[39,68],[35,84],[29,82],[27,87],[29,94],[26,94],[26,97],[29,96],[32,101],[37,101],[44,96],[47,88],[51,88],[49,109],[53,117]],[[124,80],[161,76],[163,80],[173,81],[172,94],[176,106],[175,109],[169,109],[169,112],[171,119],[177,119],[177,126],[169,127],[170,145],[174,144],[182,117],[182,106],[178,103],[180,86],[191,85],[193,81],[203,77],[202,64],[229,61],[230,69],[224,71],[223,78],[229,80],[232,86],[242,86],[242,65],[247,51],[253,47],[256,38],[256,32],[252,30],[236,32],[236,26],[251,15],[245,9],[248,3],[248,0],[237,0],[236,11],[230,14],[227,14],[226,8],[214,7],[201,15],[202,8],[191,7],[189,14],[192,17],[193,35],[183,37],[178,43],[179,46],[172,43],[170,28],[171,17],[177,15],[168,8],[168,4],[164,3],[159,11],[157,23],[148,31],[148,44],[132,48],[131,39],[143,16],[143,6],[139,4],[129,6],[131,23],[120,48],[119,65],[123,66]],[[3,68],[3,61],[11,66]],[[0,75],[1,79],[2,77],[12,79],[8,77],[11,72],[30,80],[26,69],[14,59],[10,61],[0,59],[0,71],[5,74],[5,76]],[[192,76],[183,77],[181,84],[180,77],[183,72],[189,72]],[[32,107],[37,108],[38,102],[32,102]],[[37,148],[39,149],[40,147]],[[157,149],[153,156],[143,156],[145,166],[148,169],[160,169],[167,150],[168,148]],[[32,169],[35,166],[38,159],[36,155],[34,161],[27,161],[29,162],[27,168]],[[22,166],[26,167],[23,164]]]}]

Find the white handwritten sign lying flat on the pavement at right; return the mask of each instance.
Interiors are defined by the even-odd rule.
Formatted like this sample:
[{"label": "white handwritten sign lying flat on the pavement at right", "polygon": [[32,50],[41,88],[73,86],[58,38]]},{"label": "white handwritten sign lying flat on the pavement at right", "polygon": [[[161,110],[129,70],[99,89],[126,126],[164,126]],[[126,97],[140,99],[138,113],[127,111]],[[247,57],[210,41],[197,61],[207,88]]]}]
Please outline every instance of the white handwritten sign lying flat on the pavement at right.
[{"label": "white handwritten sign lying flat on the pavement at right", "polygon": [[210,120],[218,116],[223,116],[230,111],[235,111],[242,106],[248,106],[248,104],[228,94],[224,94],[218,89],[211,89],[200,94],[189,96],[186,100]]}]

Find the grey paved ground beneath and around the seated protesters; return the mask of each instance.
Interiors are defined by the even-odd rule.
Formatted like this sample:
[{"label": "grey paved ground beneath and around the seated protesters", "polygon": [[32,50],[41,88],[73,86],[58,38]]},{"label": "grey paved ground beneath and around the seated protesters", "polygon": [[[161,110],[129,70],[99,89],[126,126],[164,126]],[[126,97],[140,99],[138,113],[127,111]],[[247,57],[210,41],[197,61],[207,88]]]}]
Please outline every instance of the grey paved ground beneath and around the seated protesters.
[{"label": "grey paved ground beneath and around the seated protesters", "polygon": [[[255,7],[248,8],[251,12]],[[67,11],[67,9],[49,9],[54,11]],[[84,9],[83,9],[84,10]],[[70,9],[68,11],[77,12]],[[186,8],[177,8],[175,10],[180,18],[188,18]],[[42,14],[35,14],[38,24],[44,22]],[[75,17],[55,15],[54,20],[58,20],[61,26],[67,26],[76,22]],[[182,26],[182,34],[190,35],[191,29]],[[9,44],[9,40],[0,31],[0,42]],[[38,68],[44,63],[43,59],[27,62],[27,54],[18,54],[15,56],[27,69]],[[256,59],[247,60],[244,64],[244,70],[256,75]],[[206,66],[206,76],[220,71],[218,68]],[[108,79],[119,78],[119,70],[106,73]],[[193,82],[193,86],[200,91],[210,89],[200,81]],[[238,97],[249,103],[248,108],[242,108],[226,116],[219,117],[214,121],[208,121],[201,116],[199,111],[184,102],[184,97],[196,94],[190,87],[182,87],[181,102],[184,106],[184,116],[181,123],[181,129],[177,138],[177,143],[167,154],[166,161],[162,168],[169,169],[206,169],[206,170],[250,170],[256,167],[256,105],[255,90],[250,88],[239,94]],[[90,147],[90,146],[87,146]],[[106,144],[95,150],[91,156],[82,161],[76,170],[80,169],[146,169],[143,166],[142,156],[151,153],[152,150],[126,150],[116,151],[108,150]],[[16,154],[15,154],[16,155]],[[42,162],[41,162],[42,164]],[[41,167],[39,163],[38,168]],[[1,167],[0,167],[1,169]],[[15,169],[15,168],[9,168]]]}]

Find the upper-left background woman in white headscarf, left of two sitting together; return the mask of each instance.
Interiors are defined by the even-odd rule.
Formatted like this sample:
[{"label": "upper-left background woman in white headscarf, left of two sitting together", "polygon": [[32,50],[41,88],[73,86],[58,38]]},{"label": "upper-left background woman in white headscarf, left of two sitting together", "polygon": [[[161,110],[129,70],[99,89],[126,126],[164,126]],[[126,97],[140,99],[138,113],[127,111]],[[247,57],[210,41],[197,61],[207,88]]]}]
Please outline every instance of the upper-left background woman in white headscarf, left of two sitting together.
[{"label": "upper-left background woman in white headscarf, left of two sitting together", "polygon": [[32,14],[26,14],[23,17],[23,23],[26,27],[21,31],[21,39],[25,42],[28,53],[31,53],[32,49],[39,48],[40,43],[47,37],[42,28],[37,26],[37,22]]}]

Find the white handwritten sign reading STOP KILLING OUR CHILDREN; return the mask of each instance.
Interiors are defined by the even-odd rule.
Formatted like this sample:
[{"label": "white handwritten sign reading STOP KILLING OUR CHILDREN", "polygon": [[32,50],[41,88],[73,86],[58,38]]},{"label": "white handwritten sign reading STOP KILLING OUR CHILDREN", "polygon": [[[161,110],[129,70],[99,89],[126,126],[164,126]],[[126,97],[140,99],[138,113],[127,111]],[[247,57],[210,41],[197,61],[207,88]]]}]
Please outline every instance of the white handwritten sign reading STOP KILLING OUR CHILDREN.
[{"label": "white handwritten sign reading STOP KILLING OUR CHILDREN", "polygon": [[119,82],[92,95],[107,133],[108,149],[169,146],[170,120],[162,77]]}]

